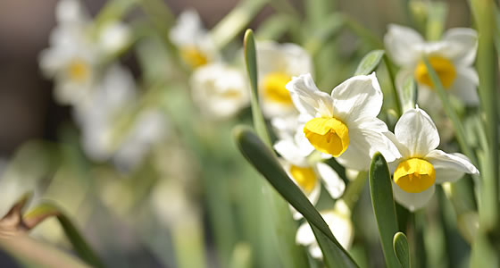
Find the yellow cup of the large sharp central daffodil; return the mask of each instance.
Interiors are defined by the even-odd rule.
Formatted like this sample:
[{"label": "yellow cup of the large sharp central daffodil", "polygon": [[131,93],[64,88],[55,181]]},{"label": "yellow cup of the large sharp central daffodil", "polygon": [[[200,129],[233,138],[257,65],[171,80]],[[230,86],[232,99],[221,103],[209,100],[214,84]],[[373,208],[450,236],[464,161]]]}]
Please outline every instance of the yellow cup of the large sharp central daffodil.
[{"label": "yellow cup of the large sharp central daffodil", "polygon": [[308,121],[304,126],[304,134],[318,151],[335,157],[346,152],[349,146],[349,130],[343,121],[335,117]]}]

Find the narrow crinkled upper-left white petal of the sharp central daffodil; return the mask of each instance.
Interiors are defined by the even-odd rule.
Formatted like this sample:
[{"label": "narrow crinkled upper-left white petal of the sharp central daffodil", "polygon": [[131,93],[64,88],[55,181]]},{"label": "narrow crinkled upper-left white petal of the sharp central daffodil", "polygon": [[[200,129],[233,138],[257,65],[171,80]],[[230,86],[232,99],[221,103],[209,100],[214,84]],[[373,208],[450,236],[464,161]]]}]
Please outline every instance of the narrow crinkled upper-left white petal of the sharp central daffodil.
[{"label": "narrow crinkled upper-left white petal of the sharp central daffodil", "polygon": [[306,113],[312,117],[332,115],[333,100],[327,93],[316,87],[310,73],[293,77],[287,83],[286,88],[290,91],[294,105],[300,113]]}]

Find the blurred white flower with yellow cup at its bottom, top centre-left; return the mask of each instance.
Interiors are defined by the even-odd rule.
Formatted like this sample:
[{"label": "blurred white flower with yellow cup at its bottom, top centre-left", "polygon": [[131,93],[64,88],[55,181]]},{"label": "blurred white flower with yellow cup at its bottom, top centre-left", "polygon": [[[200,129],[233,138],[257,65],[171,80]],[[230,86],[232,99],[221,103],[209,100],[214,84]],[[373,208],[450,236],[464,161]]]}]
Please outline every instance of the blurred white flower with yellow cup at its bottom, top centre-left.
[{"label": "blurred white flower with yellow cup at its bottom, top centre-left", "polygon": [[218,58],[212,38],[194,9],[179,14],[176,25],[171,28],[170,38],[179,48],[184,62],[192,68],[211,63]]}]

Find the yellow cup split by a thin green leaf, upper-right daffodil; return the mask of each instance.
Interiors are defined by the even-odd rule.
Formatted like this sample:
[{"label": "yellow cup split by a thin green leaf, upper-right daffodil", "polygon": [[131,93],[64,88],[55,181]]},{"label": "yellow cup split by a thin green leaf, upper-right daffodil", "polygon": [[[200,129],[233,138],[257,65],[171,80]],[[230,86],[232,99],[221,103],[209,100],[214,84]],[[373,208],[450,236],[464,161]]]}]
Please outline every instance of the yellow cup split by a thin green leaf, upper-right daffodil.
[{"label": "yellow cup split by a thin green leaf, upper-right daffodil", "polygon": [[[450,88],[456,78],[454,64],[450,60],[441,56],[430,56],[429,63],[432,66],[432,69],[437,72],[437,76],[439,77],[439,80],[441,80],[443,87]],[[427,66],[425,66],[423,61],[417,64],[414,75],[415,80],[419,83],[427,85],[429,88],[434,88],[432,80],[430,80],[429,70],[427,70]]]}]

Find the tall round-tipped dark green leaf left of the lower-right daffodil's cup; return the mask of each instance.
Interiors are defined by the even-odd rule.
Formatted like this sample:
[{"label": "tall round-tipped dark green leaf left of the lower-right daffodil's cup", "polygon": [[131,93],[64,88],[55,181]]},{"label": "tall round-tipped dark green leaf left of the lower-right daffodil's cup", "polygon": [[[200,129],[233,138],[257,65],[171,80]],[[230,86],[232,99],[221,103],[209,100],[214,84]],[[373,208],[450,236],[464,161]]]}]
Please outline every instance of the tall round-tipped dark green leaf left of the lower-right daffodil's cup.
[{"label": "tall round-tipped dark green leaf left of the lower-right daffodil's cup", "polygon": [[386,265],[389,268],[400,267],[393,249],[393,238],[398,227],[391,177],[386,159],[380,153],[373,155],[369,180],[371,205],[373,205],[373,213],[379,227]]}]

